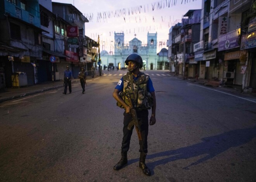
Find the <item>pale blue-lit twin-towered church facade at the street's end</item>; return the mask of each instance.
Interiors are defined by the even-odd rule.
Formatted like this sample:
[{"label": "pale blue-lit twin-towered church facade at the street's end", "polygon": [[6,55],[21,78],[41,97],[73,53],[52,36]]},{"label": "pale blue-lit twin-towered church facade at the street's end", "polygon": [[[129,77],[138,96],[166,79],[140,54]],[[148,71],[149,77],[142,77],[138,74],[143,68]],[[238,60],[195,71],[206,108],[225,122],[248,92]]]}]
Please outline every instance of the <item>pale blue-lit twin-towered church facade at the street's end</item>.
[{"label": "pale blue-lit twin-towered church facade at the street's end", "polygon": [[[131,53],[140,54],[143,60],[143,66],[147,70],[157,70],[157,32],[147,33],[147,44],[133,38],[129,44],[125,44],[125,34],[114,32],[114,54],[103,50],[100,53],[102,68],[106,66],[115,66],[115,68],[125,68],[125,60]],[[143,69],[143,68],[142,68]]]}]

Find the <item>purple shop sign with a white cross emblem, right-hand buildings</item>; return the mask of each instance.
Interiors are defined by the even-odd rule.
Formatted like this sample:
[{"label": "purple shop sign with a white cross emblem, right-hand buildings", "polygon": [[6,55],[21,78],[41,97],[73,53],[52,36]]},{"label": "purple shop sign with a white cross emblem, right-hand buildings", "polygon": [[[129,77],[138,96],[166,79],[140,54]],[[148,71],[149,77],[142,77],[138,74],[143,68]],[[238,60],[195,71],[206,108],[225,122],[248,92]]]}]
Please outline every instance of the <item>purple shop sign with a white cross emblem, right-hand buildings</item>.
[{"label": "purple shop sign with a white cross emblem, right-hand buildings", "polygon": [[219,36],[218,51],[239,47],[239,43],[238,43],[239,35],[240,35],[240,28],[232,32],[228,32],[227,34],[224,34],[222,36]]}]

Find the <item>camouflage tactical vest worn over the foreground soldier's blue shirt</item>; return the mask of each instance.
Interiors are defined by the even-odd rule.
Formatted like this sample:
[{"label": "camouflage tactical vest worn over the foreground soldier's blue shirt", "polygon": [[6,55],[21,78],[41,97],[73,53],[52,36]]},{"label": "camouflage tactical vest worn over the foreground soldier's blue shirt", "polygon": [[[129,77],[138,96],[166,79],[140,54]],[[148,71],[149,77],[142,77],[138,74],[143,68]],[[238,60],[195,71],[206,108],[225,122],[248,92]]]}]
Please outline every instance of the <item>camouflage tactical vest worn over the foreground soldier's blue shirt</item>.
[{"label": "camouflage tactical vest worn over the foreground soldier's blue shirt", "polygon": [[[136,110],[150,109],[153,105],[153,99],[151,94],[147,91],[147,82],[149,80],[149,75],[145,75],[144,73],[140,72],[138,79],[136,81],[133,80],[133,83],[131,82],[131,76],[133,79],[133,75],[131,75],[131,72],[127,72],[127,74],[123,76],[124,88],[123,91],[120,93],[120,96],[127,105],[130,105],[128,98],[125,94],[126,92],[129,92],[133,107]],[[131,88],[131,83],[133,85],[133,88]],[[121,104],[119,104],[119,102],[117,103],[117,105],[121,108],[124,108]]]}]

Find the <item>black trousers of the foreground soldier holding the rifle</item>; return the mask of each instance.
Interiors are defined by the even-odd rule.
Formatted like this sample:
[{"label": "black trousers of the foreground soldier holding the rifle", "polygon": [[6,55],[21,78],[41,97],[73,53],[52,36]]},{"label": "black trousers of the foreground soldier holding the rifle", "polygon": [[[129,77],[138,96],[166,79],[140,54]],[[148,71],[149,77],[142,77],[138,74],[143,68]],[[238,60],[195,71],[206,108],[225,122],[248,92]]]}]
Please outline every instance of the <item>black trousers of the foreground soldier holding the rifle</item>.
[{"label": "black trousers of the foreground soldier holding the rifle", "polygon": [[[122,151],[128,151],[130,148],[130,140],[131,140],[131,134],[133,131],[133,127],[131,127],[131,130],[127,129],[128,124],[132,120],[131,114],[130,113],[125,113],[124,112],[124,126],[123,126],[123,141],[122,141]],[[142,110],[142,111],[137,111],[137,117],[139,120],[139,125],[141,129],[141,134],[142,134],[142,144],[143,144],[143,149],[142,151],[142,146],[140,145],[140,152],[147,153],[147,135],[149,133],[149,111],[148,110]],[[136,132],[137,134],[137,132]],[[138,138],[138,137],[137,137]]]}]

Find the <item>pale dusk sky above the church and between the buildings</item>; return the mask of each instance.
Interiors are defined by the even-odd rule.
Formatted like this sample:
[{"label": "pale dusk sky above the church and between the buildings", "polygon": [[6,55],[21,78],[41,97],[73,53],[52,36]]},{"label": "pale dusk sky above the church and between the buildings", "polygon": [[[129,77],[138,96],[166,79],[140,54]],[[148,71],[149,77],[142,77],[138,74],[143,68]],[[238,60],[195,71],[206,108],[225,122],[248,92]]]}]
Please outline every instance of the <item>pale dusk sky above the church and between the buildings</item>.
[{"label": "pale dusk sky above the church and between the buildings", "polygon": [[[202,0],[52,0],[74,5],[89,20],[85,35],[97,40],[100,51],[113,49],[114,32],[124,32],[125,44],[136,37],[147,44],[147,32],[157,32],[157,52],[166,47],[171,26],[188,10],[201,9]],[[119,10],[119,11],[118,11]],[[120,11],[121,10],[121,11]],[[101,18],[98,17],[101,13]],[[104,18],[106,15],[106,18]],[[98,18],[97,18],[98,17]],[[160,46],[162,42],[162,46]]]}]

